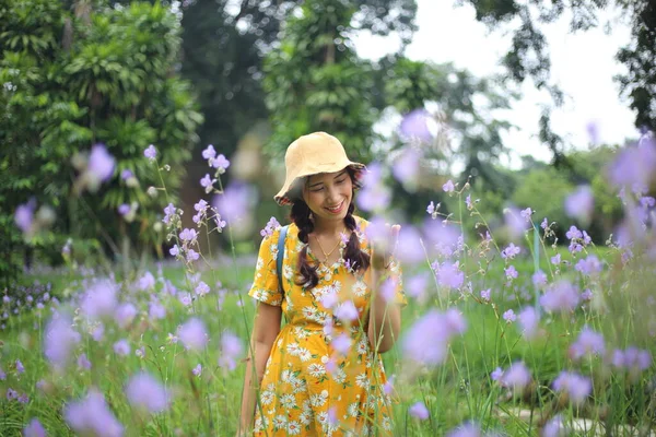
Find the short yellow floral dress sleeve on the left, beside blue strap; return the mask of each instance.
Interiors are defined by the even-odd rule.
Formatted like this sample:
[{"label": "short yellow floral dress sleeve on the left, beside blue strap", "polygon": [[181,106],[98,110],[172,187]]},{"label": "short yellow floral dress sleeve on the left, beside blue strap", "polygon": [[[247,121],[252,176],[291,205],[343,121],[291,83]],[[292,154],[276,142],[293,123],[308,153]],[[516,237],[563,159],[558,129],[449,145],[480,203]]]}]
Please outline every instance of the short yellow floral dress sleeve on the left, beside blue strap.
[{"label": "short yellow floral dress sleeve on the left, beside blue strap", "polygon": [[276,261],[278,259],[278,238],[280,228],[266,236],[260,244],[255,277],[248,295],[265,304],[281,306],[282,293],[279,290]]}]

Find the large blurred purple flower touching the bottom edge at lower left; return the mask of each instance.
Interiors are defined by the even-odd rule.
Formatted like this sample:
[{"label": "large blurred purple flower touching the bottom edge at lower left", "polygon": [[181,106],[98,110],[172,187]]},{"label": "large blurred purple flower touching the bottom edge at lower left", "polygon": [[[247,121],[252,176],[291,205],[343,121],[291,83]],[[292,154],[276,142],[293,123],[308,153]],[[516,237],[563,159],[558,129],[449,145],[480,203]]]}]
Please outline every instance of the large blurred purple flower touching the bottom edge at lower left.
[{"label": "large blurred purple flower touching the bottom edge at lower left", "polygon": [[84,400],[69,403],[63,415],[69,426],[79,434],[120,437],[125,430],[107,406],[105,397],[95,389],[91,389]]}]

